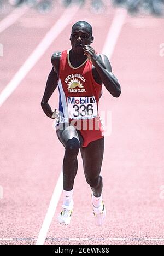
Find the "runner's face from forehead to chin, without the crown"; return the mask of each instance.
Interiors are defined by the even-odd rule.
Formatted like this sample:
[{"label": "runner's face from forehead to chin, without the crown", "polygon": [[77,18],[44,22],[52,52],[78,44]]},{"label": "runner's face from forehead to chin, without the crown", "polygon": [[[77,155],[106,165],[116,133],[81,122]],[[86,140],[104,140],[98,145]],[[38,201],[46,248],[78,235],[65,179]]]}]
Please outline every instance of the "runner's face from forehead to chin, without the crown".
[{"label": "runner's face from forehead to chin, without the crown", "polygon": [[91,44],[93,42],[93,37],[91,36],[90,31],[85,26],[76,26],[72,30],[70,37],[72,49],[75,53],[83,53],[84,45]]}]

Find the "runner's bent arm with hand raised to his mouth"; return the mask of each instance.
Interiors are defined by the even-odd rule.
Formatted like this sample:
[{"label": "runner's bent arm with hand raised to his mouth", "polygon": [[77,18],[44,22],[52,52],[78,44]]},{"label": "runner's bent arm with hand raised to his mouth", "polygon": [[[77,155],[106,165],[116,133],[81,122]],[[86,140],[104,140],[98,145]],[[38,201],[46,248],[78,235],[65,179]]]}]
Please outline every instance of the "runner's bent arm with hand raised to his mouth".
[{"label": "runner's bent arm with hand raised to his mouth", "polygon": [[113,97],[119,97],[121,94],[121,86],[118,79],[112,73],[112,67],[106,55],[95,53],[95,50],[90,45],[84,46],[84,54],[87,55],[89,60],[95,66],[102,83],[106,86],[106,89],[113,95]]}]

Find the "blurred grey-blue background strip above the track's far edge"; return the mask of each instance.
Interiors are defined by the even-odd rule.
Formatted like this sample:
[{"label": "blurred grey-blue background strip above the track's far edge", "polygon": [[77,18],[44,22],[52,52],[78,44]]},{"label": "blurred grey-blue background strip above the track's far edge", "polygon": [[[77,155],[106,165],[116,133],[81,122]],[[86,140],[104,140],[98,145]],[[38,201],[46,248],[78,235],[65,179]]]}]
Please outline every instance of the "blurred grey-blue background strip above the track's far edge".
[{"label": "blurred grey-blue background strip above the track's far edge", "polygon": [[72,4],[81,4],[85,7],[86,2],[90,2],[90,9],[94,13],[103,13],[109,4],[113,6],[122,6],[131,14],[152,14],[157,16],[163,15],[164,0],[0,0],[1,11],[6,5],[19,7],[26,4],[33,7],[40,13],[48,13],[58,5],[69,7]]}]

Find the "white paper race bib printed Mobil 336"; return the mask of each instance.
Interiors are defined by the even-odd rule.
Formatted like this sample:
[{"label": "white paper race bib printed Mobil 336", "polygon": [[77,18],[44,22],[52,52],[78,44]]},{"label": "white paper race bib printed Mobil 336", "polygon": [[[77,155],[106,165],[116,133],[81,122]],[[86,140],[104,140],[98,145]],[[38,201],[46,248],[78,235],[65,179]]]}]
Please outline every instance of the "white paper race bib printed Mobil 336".
[{"label": "white paper race bib printed Mobil 336", "polygon": [[68,97],[68,113],[71,119],[92,119],[97,117],[97,102],[92,97]]}]

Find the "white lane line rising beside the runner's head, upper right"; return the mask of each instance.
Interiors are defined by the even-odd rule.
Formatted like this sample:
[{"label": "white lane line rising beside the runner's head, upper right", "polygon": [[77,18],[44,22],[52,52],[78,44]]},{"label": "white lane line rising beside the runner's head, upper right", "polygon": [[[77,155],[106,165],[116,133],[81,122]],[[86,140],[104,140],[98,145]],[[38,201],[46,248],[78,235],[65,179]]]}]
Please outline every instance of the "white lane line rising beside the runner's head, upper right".
[{"label": "white lane line rising beside the runner's head, upper right", "polygon": [[112,25],[106,38],[106,43],[104,44],[102,50],[102,53],[106,54],[109,59],[112,57],[115,45],[117,43],[122,26],[124,25],[126,16],[127,11],[125,9],[116,10],[116,14],[114,16]]}]

